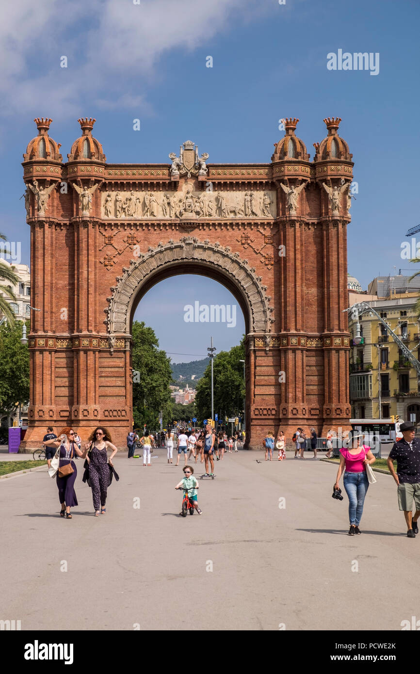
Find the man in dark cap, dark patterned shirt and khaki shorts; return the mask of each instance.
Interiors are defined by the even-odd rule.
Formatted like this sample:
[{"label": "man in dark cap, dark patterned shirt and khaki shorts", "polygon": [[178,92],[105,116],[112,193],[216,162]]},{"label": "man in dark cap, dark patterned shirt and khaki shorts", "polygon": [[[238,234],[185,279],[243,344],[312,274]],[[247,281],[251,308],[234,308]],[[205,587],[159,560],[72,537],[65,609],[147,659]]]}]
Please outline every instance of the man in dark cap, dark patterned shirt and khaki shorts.
[{"label": "man in dark cap, dark patterned shirt and khaki shorts", "polygon": [[[404,512],[407,536],[414,539],[415,534],[419,533],[417,520],[420,516],[420,440],[415,437],[415,426],[411,421],[404,421],[400,425],[400,431],[402,439],[394,443],[386,463],[398,485],[398,508]],[[396,461],[396,473],[392,461]]]}]

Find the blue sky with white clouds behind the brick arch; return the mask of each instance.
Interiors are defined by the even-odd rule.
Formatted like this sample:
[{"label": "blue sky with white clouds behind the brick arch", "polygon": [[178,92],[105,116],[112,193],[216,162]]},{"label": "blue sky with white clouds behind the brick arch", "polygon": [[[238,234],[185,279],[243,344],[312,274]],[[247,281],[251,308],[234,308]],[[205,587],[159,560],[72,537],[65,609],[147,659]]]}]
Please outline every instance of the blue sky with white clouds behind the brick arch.
[{"label": "blue sky with white clouds behind the brick arch", "polygon": [[[19,200],[20,162],[36,135],[34,117],[53,118],[51,136],[64,158],[80,135],[78,117],[88,116],[96,117],[94,135],[109,162],[169,162],[169,152],[187,139],[210,154],[209,162],[268,162],[284,135],[280,118],[299,117],[297,135],[313,158],[313,142],[326,135],[322,119],[337,116],[359,186],[349,272],[366,288],[373,276],[409,267],[401,243],[420,222],[417,1],[21,0],[4,5],[6,11],[0,22],[0,231],[22,242],[22,262],[29,262],[29,228]],[[327,54],[338,49],[378,52],[379,74],[329,71]],[[59,65],[63,55],[67,68]],[[136,118],[140,131],[133,131]],[[177,283],[182,297],[189,280]],[[212,295],[213,286],[208,280],[203,292],[207,287]],[[157,291],[148,295],[156,300]],[[136,317],[152,315],[148,295]],[[177,306],[174,320],[178,313]],[[150,324],[163,346],[167,315],[155,315]],[[218,327],[220,344],[237,342],[236,328]],[[185,334],[178,332],[171,350],[202,352],[193,342],[185,348]]]}]

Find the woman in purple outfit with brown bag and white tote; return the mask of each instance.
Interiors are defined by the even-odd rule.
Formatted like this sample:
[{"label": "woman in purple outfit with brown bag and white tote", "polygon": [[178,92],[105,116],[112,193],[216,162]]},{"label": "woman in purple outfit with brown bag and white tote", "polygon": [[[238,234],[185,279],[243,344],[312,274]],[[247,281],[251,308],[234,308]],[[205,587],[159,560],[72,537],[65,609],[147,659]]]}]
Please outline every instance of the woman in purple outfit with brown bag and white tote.
[{"label": "woman in purple outfit with brown bag and white tote", "polygon": [[[73,461],[75,454],[84,458],[88,450],[80,450],[75,442],[75,433],[74,431],[67,427],[59,433],[59,437],[56,440],[48,440],[44,443],[49,447],[59,447],[59,469],[57,470],[57,487],[59,490],[59,500],[61,503],[60,516],[66,516],[67,520],[71,520],[72,516],[70,514],[70,508],[73,505],[79,505],[78,499],[76,498],[76,491],[74,491],[74,483],[76,482],[76,477],[78,476],[78,469],[76,464]],[[65,466],[70,465],[73,468],[72,471],[68,472],[63,477],[60,476],[59,472]],[[67,468],[66,471],[69,469]]]}]

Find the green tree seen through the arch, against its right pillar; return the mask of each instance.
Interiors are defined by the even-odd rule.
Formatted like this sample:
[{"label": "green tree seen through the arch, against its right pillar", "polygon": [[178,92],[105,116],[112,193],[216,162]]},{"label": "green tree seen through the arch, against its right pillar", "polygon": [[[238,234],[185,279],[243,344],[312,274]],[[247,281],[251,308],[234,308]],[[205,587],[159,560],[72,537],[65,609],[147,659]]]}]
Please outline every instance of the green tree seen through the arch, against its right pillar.
[{"label": "green tree seen through the arch, against its right pillar", "polygon": [[[243,363],[239,362],[241,360],[245,360],[244,337],[239,346],[233,346],[230,351],[220,351],[214,357],[214,412],[222,412],[222,415],[227,414],[233,417],[243,414],[245,383]],[[198,419],[210,418],[212,413],[211,365],[208,365],[197,384],[196,412]]]}]

